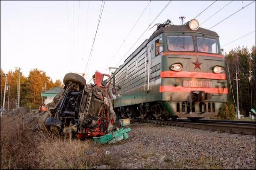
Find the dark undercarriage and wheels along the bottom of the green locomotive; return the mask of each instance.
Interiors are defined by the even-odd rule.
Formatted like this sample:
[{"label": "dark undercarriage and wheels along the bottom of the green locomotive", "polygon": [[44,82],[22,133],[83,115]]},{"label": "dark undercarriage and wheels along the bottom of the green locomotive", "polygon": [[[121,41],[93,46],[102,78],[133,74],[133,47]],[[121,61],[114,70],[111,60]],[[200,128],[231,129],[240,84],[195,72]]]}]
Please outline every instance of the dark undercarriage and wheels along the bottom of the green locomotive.
[{"label": "dark undercarriage and wheels along the bottom of the green locomotive", "polygon": [[173,109],[170,113],[161,102],[141,103],[130,106],[121,106],[115,108],[117,117],[119,118],[145,118],[145,119],[162,119],[167,120],[171,118],[189,118],[197,120],[200,118],[211,118],[218,114],[222,105],[220,102],[170,102],[166,101]]}]

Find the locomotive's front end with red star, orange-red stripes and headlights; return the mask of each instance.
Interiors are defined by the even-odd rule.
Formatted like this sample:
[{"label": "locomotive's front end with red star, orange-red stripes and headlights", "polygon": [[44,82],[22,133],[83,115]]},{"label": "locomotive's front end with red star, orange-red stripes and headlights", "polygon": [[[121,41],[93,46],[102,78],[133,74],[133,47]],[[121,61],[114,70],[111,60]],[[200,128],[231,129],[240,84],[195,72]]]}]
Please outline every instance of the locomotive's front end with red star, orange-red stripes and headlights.
[{"label": "locomotive's front end with red star, orange-red stripes and headlights", "polygon": [[159,91],[169,116],[214,117],[227,101],[219,37],[198,25],[194,19],[164,33]]}]

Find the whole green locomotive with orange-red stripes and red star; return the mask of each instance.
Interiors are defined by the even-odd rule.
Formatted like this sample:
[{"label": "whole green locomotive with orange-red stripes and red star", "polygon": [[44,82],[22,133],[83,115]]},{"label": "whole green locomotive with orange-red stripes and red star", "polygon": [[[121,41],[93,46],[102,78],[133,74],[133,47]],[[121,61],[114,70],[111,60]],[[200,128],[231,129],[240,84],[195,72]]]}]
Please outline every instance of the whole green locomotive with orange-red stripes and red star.
[{"label": "whole green locomotive with orange-red stripes and red star", "polygon": [[227,101],[225,61],[216,32],[192,19],[159,24],[111,76],[120,117],[209,118]]}]

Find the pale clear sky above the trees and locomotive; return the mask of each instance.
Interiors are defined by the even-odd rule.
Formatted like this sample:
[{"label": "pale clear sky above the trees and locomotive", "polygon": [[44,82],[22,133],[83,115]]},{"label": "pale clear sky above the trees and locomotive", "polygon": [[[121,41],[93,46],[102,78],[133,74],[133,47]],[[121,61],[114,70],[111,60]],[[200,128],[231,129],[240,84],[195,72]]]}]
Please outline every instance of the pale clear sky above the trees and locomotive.
[{"label": "pale clear sky above the trees and locomotive", "polygon": [[[8,72],[14,71],[14,67],[21,67],[22,73],[28,76],[30,70],[38,68],[53,81],[62,81],[65,74],[70,72],[86,73],[87,82],[96,70],[109,73],[108,67],[123,64],[155,31],[156,27],[153,27],[142,35],[169,1],[149,2],[105,1],[95,37],[102,1],[1,1],[1,69]],[[180,25],[179,16],[185,16],[184,21],[187,22],[213,2],[171,1],[151,26],[167,19]],[[196,18],[199,24],[229,2],[216,1]],[[209,29],[251,2],[232,1],[200,27]],[[255,46],[255,20],[254,1],[211,30],[220,36],[220,46],[254,31],[222,47],[224,52],[237,46],[250,49]],[[95,43],[88,62],[94,37]]]}]

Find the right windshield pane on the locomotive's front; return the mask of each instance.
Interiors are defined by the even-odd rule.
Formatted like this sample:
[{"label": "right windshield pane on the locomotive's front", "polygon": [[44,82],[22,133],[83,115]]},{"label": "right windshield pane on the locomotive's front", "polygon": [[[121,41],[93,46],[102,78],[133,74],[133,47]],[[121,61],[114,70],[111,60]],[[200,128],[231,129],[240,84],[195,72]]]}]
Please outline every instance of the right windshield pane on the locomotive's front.
[{"label": "right windshield pane on the locomotive's front", "polygon": [[219,53],[218,41],[212,38],[197,37],[198,52]]}]

